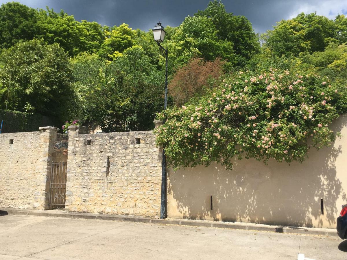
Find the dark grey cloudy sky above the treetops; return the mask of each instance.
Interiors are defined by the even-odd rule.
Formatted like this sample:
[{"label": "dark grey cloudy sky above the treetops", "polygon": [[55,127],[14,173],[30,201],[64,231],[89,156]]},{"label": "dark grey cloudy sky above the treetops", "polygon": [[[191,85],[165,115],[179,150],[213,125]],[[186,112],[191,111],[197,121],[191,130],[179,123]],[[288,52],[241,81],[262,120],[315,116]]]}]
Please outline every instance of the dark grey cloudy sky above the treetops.
[{"label": "dark grey cloudy sky above the treetops", "polygon": [[[9,1],[0,0],[0,3]],[[133,29],[147,31],[158,20],[163,26],[178,26],[187,15],[204,10],[209,0],[19,0],[33,8],[63,9],[76,20],[97,21],[102,25],[129,24]],[[300,12],[316,11],[334,19],[347,14],[347,0],[224,0],[227,12],[244,15],[256,33],[263,33],[281,19],[290,19]]]}]

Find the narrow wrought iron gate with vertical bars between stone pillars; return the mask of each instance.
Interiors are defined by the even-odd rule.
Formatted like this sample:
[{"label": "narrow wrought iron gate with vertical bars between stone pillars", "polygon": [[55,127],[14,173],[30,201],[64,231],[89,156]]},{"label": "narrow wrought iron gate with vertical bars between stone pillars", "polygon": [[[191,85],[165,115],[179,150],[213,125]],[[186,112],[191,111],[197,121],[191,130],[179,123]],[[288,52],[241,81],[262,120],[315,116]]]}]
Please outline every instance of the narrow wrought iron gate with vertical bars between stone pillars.
[{"label": "narrow wrought iron gate with vertical bars between stone pillars", "polygon": [[49,209],[65,208],[67,163],[52,162],[51,182],[49,188]]}]

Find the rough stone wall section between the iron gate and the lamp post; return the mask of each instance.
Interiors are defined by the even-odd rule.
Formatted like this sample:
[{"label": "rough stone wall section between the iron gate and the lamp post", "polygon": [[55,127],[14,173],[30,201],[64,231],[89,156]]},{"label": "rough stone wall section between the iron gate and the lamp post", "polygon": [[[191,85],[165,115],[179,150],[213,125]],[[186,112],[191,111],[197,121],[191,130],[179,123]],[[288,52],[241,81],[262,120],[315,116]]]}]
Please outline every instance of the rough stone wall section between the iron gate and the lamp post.
[{"label": "rough stone wall section between the iron gate and the lamp post", "polygon": [[159,216],[161,153],[152,131],[68,130],[67,210]]}]

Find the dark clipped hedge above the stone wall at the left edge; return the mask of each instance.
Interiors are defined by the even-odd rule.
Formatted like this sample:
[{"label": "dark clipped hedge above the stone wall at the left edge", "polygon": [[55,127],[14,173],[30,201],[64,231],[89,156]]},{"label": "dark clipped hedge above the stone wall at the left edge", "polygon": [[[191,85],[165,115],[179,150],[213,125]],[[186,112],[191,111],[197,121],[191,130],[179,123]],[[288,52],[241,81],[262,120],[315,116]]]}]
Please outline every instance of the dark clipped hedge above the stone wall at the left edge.
[{"label": "dark clipped hedge above the stone wall at the left edge", "polygon": [[42,126],[58,127],[60,122],[40,114],[19,111],[0,110],[0,124],[3,120],[2,133],[34,132]]}]

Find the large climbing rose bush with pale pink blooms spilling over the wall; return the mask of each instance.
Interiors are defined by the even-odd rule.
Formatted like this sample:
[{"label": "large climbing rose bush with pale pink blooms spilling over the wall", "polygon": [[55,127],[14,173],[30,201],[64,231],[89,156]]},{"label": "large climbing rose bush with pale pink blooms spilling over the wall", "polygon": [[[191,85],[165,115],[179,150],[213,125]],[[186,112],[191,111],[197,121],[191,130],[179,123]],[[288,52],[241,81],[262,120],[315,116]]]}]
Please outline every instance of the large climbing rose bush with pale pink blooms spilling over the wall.
[{"label": "large climbing rose bush with pale pink blooms spilling over the wall", "polygon": [[158,114],[167,120],[155,129],[156,144],[174,168],[218,162],[231,170],[235,158],[302,162],[309,138],[316,148],[335,139],[329,125],[346,112],[345,93],[314,73],[239,72],[199,101]]}]

